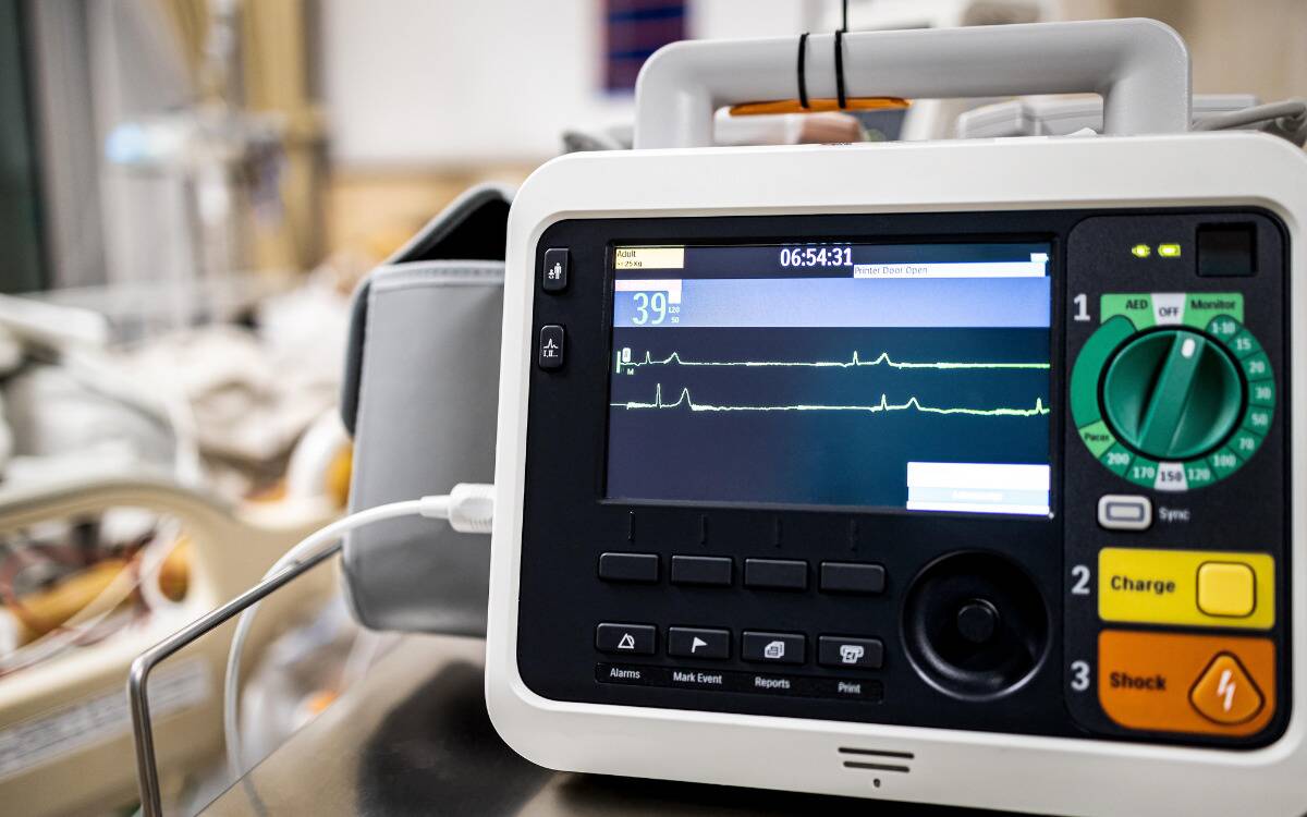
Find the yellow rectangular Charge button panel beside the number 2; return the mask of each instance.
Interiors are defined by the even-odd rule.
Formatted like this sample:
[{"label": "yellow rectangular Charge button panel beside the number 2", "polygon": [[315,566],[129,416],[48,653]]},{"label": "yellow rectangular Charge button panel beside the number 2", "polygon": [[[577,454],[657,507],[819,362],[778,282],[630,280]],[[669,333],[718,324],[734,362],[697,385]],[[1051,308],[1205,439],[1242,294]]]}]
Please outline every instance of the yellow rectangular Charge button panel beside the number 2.
[{"label": "yellow rectangular Charge button panel beside the number 2", "polygon": [[1265,553],[1103,548],[1103,621],[1269,630],[1276,624],[1276,559]]}]

